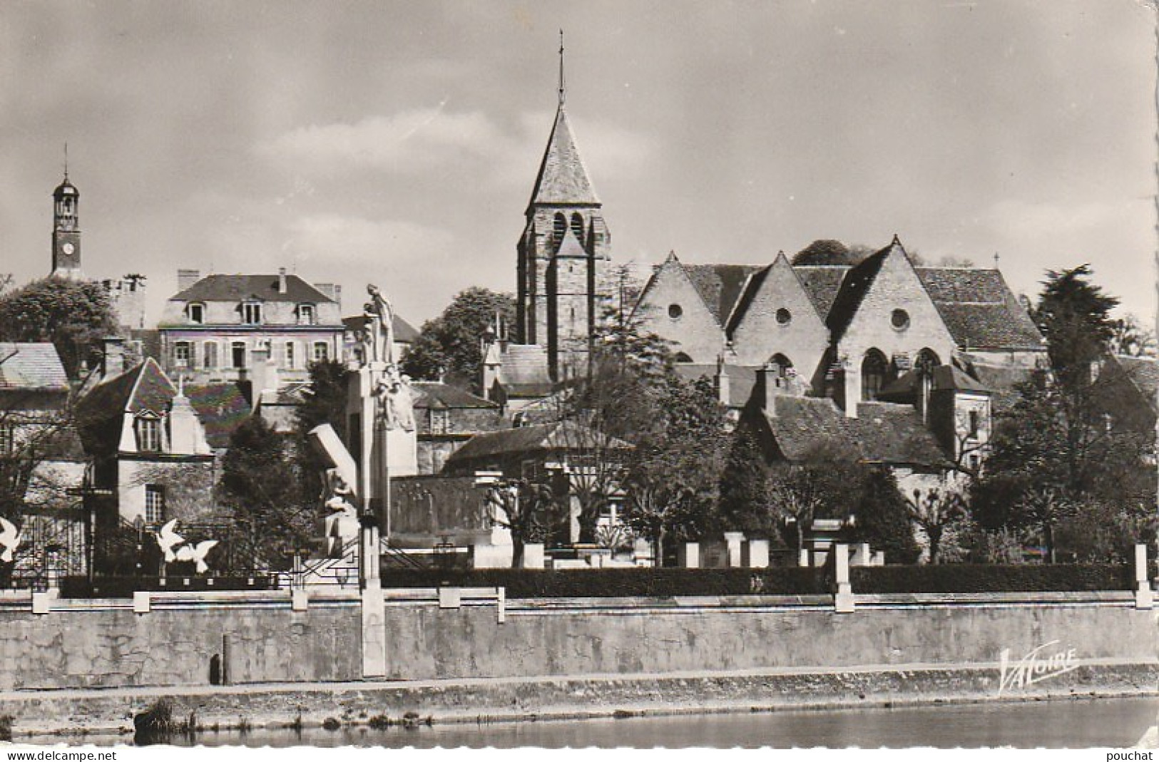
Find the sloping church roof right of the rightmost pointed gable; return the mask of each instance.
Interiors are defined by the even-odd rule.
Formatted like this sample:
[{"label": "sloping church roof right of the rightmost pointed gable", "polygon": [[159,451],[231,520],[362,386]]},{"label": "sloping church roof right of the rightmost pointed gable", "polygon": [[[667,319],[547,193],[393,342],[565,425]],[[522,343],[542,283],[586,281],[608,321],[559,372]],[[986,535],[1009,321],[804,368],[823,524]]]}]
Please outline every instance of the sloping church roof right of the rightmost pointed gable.
[{"label": "sloping church roof right of the rightmost pointed gable", "polygon": [[1041,350],[1042,334],[998,270],[916,268],[960,346],[976,350]]}]

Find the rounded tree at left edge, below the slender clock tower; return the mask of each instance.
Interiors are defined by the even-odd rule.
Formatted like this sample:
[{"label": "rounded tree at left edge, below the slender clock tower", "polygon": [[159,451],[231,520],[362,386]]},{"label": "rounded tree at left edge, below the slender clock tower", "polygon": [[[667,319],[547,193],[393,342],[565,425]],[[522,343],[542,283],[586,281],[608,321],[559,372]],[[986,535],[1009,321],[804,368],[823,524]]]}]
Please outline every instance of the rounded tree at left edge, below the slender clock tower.
[{"label": "rounded tree at left edge, below the slender clock tower", "polygon": [[0,340],[52,342],[71,379],[114,332],[108,293],[92,280],[42,278],[0,295]]}]

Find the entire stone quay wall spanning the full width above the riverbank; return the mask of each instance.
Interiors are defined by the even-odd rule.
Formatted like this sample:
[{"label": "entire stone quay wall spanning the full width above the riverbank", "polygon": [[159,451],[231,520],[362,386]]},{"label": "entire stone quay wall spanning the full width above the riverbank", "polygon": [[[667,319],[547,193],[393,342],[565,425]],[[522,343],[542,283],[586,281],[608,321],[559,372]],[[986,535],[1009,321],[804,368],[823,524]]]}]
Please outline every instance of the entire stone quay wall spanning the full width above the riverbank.
[{"label": "entire stone quay wall spanning the full width above the riverbank", "polygon": [[[0,691],[204,687],[214,669],[234,686],[347,682],[370,662],[385,664],[377,676],[404,681],[982,668],[997,691],[1004,661],[1007,675],[1029,664],[1032,682],[1062,682],[1064,667],[1093,669],[1096,682],[1103,667],[1150,674],[1159,665],[1156,610],[1136,608],[1130,593],[858,595],[850,613],[832,596],[382,596],[382,616],[366,620],[353,591],[37,605],[6,594]],[[373,644],[385,650],[377,661],[364,653]]]}]

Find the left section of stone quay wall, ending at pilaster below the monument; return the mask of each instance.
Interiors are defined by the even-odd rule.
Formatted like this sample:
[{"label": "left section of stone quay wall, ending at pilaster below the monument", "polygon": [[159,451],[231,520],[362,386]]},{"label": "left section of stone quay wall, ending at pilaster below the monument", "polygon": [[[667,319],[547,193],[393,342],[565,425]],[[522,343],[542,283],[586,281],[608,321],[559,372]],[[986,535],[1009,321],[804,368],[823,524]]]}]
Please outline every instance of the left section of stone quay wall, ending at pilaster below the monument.
[{"label": "left section of stone quay wall, ending at pilaster below the monument", "polygon": [[53,599],[46,613],[30,595],[0,599],[0,690],[362,676],[356,594],[307,611],[285,592],[151,598],[147,611],[124,599]]}]

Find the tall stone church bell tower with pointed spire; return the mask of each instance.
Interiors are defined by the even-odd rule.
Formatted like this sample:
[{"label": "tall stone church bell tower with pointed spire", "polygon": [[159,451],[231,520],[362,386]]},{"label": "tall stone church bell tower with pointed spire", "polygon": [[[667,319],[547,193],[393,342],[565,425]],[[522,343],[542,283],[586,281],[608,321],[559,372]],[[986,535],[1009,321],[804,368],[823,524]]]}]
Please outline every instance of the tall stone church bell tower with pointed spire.
[{"label": "tall stone church bell tower with pointed spire", "polygon": [[564,95],[560,32],[559,108],[517,246],[518,340],[547,346],[555,381],[586,371],[611,258],[603,204],[576,149]]}]

